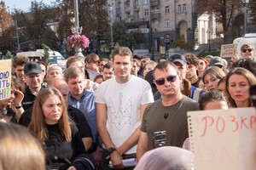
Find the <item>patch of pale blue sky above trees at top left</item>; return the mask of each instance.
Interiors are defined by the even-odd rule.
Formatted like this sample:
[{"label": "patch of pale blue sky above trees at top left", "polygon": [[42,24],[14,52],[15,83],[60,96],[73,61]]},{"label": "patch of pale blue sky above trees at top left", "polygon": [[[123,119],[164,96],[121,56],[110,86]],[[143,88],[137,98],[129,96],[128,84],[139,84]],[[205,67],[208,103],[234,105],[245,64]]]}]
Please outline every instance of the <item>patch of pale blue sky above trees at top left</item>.
[{"label": "patch of pale blue sky above trees at top left", "polygon": [[[12,12],[14,8],[20,8],[24,12],[28,12],[31,6],[31,2],[33,0],[1,0],[1,1],[5,2],[7,11],[9,10],[10,12]],[[36,0],[36,1],[40,2],[39,0]],[[53,0],[43,0],[43,3],[50,4],[51,1]]]}]

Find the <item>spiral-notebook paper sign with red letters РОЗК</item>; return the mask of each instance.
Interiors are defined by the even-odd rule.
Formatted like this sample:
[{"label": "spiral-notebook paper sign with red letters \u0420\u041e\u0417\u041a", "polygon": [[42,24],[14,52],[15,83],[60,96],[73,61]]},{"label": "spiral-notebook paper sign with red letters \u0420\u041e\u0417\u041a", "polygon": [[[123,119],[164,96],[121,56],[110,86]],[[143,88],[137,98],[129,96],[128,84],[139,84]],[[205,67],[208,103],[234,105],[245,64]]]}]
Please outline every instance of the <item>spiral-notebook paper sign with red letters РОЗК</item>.
[{"label": "spiral-notebook paper sign with red letters \u0420\u041e\u0417\u041a", "polygon": [[188,124],[196,170],[256,169],[255,108],[189,111]]}]

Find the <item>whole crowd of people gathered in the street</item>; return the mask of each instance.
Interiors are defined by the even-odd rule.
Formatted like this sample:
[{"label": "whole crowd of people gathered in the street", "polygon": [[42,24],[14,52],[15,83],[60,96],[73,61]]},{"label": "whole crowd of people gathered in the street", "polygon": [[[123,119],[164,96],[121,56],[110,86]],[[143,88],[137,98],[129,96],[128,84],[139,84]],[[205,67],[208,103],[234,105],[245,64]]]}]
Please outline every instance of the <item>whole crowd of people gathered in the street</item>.
[{"label": "whole crowd of people gathered in the street", "polygon": [[190,169],[187,111],[252,107],[254,54],[244,44],[229,65],[191,53],[155,62],[121,47],[69,57],[65,71],[16,56],[0,169]]}]

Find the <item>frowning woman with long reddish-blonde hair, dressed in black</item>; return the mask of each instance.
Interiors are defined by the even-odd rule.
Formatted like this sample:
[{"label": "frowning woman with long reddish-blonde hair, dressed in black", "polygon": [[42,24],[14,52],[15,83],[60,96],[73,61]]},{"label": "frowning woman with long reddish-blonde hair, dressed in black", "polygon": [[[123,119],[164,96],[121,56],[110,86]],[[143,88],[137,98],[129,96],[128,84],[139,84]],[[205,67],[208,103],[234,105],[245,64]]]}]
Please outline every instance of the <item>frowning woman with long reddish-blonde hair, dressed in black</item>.
[{"label": "frowning woman with long reddish-blonde hair, dressed in black", "polygon": [[85,155],[79,130],[69,120],[66,103],[56,88],[39,92],[28,128],[43,145],[49,168],[90,169],[90,158]]}]

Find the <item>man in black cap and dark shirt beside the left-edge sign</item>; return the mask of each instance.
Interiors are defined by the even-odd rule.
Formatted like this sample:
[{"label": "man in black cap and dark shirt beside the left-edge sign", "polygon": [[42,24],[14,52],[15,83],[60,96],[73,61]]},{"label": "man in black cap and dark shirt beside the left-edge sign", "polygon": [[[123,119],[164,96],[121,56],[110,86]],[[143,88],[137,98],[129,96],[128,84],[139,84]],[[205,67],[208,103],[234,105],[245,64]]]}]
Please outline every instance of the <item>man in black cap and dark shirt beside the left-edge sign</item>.
[{"label": "man in black cap and dark shirt beside the left-edge sign", "polygon": [[36,96],[42,88],[42,70],[38,63],[31,61],[26,63],[24,66],[24,73],[27,87],[25,89],[24,99],[22,100],[21,105],[23,106],[24,111],[26,111],[33,105]]}]

